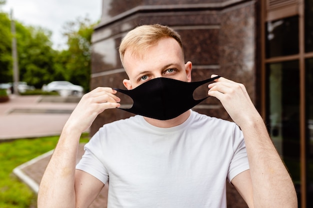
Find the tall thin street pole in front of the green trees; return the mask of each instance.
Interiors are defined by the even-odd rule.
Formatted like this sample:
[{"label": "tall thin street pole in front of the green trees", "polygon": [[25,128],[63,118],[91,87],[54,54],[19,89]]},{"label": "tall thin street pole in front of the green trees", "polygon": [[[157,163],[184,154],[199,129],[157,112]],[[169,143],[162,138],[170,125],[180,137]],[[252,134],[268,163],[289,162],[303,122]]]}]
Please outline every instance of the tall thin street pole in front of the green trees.
[{"label": "tall thin street pole in front of the green trees", "polygon": [[11,9],[11,33],[12,33],[12,60],[13,60],[13,93],[18,95],[18,62],[17,62],[17,47],[15,21],[13,19],[13,9]]}]

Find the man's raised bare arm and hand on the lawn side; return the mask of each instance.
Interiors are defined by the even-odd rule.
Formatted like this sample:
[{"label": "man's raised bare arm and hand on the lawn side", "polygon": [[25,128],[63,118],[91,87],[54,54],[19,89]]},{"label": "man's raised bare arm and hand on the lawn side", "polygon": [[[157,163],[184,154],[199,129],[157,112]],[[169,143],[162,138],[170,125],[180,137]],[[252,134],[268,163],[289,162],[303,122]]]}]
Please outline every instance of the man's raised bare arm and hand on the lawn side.
[{"label": "man's raised bare arm and hand on the lawn side", "polygon": [[87,207],[92,202],[88,199],[94,199],[101,190],[103,184],[97,179],[82,171],[75,174],[77,149],[81,133],[96,116],[105,109],[119,107],[115,93],[111,88],[98,87],[81,98],[63,127],[41,179],[38,208],[75,208],[78,204],[79,208]]}]

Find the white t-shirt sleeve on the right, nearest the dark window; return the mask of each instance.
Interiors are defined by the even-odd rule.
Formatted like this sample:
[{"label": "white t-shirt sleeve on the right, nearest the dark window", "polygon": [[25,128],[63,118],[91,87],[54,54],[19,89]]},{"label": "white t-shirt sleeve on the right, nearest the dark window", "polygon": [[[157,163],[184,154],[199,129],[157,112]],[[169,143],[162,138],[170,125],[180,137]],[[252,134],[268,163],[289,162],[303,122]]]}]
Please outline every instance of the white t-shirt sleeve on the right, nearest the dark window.
[{"label": "white t-shirt sleeve on the right, nearest the dark window", "polygon": [[243,134],[239,127],[234,124],[233,128],[233,156],[228,168],[227,179],[228,182],[237,176],[249,169],[248,158],[246,154]]}]

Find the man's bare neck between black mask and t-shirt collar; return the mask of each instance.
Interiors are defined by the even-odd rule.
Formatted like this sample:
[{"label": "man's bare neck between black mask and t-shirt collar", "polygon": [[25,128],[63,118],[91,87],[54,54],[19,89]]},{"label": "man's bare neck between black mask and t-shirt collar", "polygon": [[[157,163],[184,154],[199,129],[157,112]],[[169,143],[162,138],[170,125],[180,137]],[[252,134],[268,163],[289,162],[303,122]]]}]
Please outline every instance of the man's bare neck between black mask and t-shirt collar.
[{"label": "man's bare neck between black mask and t-shirt collar", "polygon": [[143,118],[146,122],[148,122],[149,124],[153,126],[156,126],[159,128],[170,128],[170,127],[178,126],[182,124],[183,122],[185,122],[185,120],[187,120],[187,118],[190,116],[190,112],[191,110],[187,110],[186,112],[177,116],[176,118],[165,120],[165,121],[148,118],[148,117],[143,117]]}]

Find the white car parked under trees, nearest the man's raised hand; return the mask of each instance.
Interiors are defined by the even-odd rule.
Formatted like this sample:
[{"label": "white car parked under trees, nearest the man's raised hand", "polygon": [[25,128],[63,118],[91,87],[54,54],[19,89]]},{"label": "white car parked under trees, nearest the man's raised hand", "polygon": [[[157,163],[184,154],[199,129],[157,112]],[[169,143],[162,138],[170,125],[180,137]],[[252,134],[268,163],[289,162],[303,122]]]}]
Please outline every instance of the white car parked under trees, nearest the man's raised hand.
[{"label": "white car parked under trees, nearest the man's raised hand", "polygon": [[68,81],[53,81],[47,85],[42,86],[42,91],[57,92],[61,96],[76,95],[81,96],[83,94],[83,88],[79,85],[74,85]]}]

